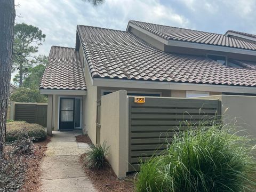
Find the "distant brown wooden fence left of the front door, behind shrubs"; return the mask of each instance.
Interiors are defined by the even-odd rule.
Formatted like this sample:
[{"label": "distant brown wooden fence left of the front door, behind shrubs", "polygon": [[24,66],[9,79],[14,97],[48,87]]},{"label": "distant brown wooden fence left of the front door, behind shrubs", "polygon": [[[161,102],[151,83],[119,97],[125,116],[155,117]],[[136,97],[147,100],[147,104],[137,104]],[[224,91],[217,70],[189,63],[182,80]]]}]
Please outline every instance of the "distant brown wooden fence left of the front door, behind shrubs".
[{"label": "distant brown wooden fence left of the front door, behind shrubs", "polygon": [[15,121],[47,124],[47,103],[15,103]]}]

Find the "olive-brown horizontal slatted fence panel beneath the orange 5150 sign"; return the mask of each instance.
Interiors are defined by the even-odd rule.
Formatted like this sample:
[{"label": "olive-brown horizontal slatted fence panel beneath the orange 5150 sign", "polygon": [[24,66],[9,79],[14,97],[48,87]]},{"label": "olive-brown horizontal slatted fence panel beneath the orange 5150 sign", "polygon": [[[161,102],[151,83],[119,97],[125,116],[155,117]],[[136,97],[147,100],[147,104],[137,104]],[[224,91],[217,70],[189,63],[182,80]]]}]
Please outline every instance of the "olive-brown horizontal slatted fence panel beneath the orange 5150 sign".
[{"label": "olive-brown horizontal slatted fence panel beneath the orange 5150 sign", "polygon": [[129,172],[139,170],[140,158],[161,153],[174,134],[186,129],[184,121],[220,118],[220,109],[218,100],[146,98],[134,103],[129,97]]}]

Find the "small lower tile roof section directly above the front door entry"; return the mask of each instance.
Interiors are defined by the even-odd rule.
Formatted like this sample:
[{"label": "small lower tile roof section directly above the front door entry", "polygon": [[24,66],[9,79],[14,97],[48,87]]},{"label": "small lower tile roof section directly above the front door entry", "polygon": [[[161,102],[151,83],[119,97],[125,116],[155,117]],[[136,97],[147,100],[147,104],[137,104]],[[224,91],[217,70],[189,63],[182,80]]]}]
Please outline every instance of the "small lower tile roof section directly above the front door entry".
[{"label": "small lower tile roof section directly above the front door entry", "polygon": [[52,46],[39,89],[86,90],[79,53],[73,48]]}]

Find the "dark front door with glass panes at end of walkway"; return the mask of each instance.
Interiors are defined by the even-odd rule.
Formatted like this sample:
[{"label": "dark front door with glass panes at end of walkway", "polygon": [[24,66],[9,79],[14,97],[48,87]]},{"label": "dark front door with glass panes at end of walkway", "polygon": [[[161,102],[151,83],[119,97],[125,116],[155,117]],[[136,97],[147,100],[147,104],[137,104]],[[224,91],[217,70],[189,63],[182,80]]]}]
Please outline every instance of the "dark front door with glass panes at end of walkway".
[{"label": "dark front door with glass panes at end of walkway", "polygon": [[73,131],[75,127],[75,99],[60,98],[60,131]]}]

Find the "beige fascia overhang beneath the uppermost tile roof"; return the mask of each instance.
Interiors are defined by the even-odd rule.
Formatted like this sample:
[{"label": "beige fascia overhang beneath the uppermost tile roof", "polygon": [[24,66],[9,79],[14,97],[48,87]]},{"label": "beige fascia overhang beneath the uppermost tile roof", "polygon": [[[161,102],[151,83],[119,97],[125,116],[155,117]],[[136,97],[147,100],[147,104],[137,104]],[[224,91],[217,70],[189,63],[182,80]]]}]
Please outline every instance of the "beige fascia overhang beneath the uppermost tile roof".
[{"label": "beige fascia overhang beneath the uppermost tile roof", "polygon": [[[252,50],[245,50],[245,49],[238,49],[233,47],[226,47],[226,46],[220,46],[220,45],[207,45],[202,43],[192,43],[192,42],[184,42],[184,41],[175,41],[175,40],[167,40],[162,37],[159,37],[153,33],[150,33],[146,29],[143,29],[141,27],[138,27],[132,23],[129,23],[127,26],[127,30],[129,30],[129,27],[132,27],[134,29],[139,30],[141,33],[144,33],[154,39],[156,39],[159,42],[162,42],[165,45],[168,46],[178,46],[178,47],[187,47],[191,49],[201,49],[201,50],[210,50],[210,51],[222,51],[222,52],[228,52],[228,53],[237,53],[237,54],[246,54],[246,55],[254,55],[256,56],[256,51]],[[254,39],[255,41],[255,39]]]}]

